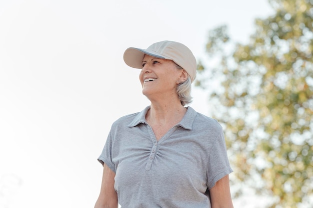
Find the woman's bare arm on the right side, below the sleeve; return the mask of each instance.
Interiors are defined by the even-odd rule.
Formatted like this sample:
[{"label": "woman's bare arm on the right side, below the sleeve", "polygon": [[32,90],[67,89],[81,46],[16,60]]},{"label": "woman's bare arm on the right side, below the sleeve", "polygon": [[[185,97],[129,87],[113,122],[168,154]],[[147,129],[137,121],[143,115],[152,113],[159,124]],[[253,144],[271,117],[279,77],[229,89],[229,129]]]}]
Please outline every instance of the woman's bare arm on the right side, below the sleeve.
[{"label": "woman's bare arm on the right side, below the sleeve", "polygon": [[228,175],[217,181],[209,194],[212,208],[233,208]]}]

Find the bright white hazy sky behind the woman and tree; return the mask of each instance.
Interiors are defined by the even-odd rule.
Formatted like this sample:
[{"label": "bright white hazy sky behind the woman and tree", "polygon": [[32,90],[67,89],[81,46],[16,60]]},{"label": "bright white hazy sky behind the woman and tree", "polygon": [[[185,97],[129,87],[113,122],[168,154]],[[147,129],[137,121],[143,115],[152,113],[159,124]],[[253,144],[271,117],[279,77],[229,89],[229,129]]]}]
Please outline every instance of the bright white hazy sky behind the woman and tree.
[{"label": "bright white hazy sky behind the woman and tree", "polygon": [[209,29],[246,42],[271,13],[267,0],[0,0],[0,208],[93,208],[111,123],[149,105],[127,47],[174,40],[202,59]]}]

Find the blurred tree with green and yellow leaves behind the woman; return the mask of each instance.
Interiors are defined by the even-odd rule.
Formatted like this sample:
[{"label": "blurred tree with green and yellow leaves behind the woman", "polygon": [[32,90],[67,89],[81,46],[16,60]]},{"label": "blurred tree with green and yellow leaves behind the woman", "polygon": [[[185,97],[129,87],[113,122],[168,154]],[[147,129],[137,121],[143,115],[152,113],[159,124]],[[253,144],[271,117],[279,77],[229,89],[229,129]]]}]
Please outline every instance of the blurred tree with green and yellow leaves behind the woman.
[{"label": "blurred tree with green and yellow leaves behind the woman", "polygon": [[[227,27],[209,32],[196,85],[224,126],[232,183],[271,199],[268,208],[313,198],[313,0],[269,0],[247,44]],[[237,183],[240,182],[240,183]],[[240,196],[240,189],[235,197]],[[311,206],[311,205],[310,205]]]}]

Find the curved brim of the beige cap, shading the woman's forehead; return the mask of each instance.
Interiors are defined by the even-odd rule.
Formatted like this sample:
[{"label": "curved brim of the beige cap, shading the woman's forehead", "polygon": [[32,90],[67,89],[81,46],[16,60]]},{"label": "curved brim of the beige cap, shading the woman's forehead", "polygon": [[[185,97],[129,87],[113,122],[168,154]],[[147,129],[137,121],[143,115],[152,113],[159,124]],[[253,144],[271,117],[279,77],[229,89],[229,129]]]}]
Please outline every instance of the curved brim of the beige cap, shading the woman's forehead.
[{"label": "curved brim of the beige cap, shading the woman's forehead", "polygon": [[141,49],[141,48],[127,48],[123,55],[124,62],[132,68],[141,69],[142,59],[143,59],[144,54],[147,54],[149,56],[153,56],[156,58],[166,59],[166,57],[151,50]]}]

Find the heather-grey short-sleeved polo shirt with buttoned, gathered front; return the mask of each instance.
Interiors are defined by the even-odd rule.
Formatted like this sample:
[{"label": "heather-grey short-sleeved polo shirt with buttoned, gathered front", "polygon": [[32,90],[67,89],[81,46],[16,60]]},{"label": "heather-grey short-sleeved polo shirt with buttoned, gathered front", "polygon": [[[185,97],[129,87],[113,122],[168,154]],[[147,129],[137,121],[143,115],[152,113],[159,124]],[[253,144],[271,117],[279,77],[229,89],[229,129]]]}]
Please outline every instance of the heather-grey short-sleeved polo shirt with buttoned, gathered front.
[{"label": "heather-grey short-sleeved polo shirt with buttoned, gathered front", "polygon": [[187,107],[156,141],[149,108],[116,120],[98,158],[115,172],[121,208],[210,208],[205,191],[232,172],[221,126]]}]

